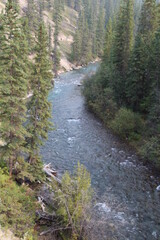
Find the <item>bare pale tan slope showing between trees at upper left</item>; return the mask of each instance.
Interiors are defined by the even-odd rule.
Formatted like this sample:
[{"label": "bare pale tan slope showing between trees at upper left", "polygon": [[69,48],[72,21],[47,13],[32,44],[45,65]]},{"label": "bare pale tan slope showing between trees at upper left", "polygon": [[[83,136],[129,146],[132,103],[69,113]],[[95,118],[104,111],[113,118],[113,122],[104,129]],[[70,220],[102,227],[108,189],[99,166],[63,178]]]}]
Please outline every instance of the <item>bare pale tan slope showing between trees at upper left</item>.
[{"label": "bare pale tan slope showing between trees at upper left", "polygon": [[[3,0],[0,0],[0,12],[5,7],[5,2]],[[20,6],[20,14],[21,16],[24,15],[27,8],[27,1],[26,0],[19,0],[19,6]],[[55,30],[55,24],[53,22],[53,16],[51,12],[43,11],[43,19],[46,23],[46,27],[49,25],[51,26],[51,35],[52,35],[52,47],[53,47],[53,34]],[[77,19],[78,19],[78,12],[74,9],[65,6],[64,11],[62,14],[62,22],[61,22],[61,30],[58,37],[59,45],[60,45],[60,54],[61,54],[61,60],[60,65],[61,68],[59,72],[62,71],[70,71],[74,68],[74,65],[69,61],[69,54],[71,53],[71,44],[73,43],[73,35],[76,30],[77,26]]]}]

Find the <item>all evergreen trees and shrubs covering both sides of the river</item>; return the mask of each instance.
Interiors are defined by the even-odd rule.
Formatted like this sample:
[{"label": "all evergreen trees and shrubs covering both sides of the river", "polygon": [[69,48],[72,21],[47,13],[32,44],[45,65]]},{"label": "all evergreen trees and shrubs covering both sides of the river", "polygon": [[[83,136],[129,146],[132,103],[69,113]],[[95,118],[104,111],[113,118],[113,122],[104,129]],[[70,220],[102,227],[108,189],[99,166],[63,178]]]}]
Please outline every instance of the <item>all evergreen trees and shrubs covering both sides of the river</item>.
[{"label": "all evergreen trees and shrubs covering both sides of the river", "polygon": [[[46,181],[40,147],[53,130],[48,94],[60,67],[65,6],[78,16],[70,61],[78,66],[102,59],[84,84],[88,106],[160,166],[160,4],[27,0],[22,14],[19,1],[8,0],[0,14],[0,225],[26,240],[37,239],[35,188]],[[52,16],[54,31],[44,23],[44,11]],[[90,185],[80,164],[73,178],[67,173],[61,186],[51,185],[58,227],[65,229],[57,233],[60,239],[86,239]]]}]

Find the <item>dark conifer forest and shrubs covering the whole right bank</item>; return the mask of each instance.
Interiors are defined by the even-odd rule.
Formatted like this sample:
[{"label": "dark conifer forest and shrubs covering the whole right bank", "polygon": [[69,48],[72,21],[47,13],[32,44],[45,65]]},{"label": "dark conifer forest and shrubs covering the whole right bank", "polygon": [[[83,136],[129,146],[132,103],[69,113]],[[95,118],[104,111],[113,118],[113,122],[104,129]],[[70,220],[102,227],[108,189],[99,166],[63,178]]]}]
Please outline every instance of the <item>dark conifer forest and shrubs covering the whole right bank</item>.
[{"label": "dark conifer forest and shrubs covering the whole right bank", "polygon": [[98,73],[85,82],[87,103],[107,126],[160,167],[160,4],[133,0],[108,21]]}]

